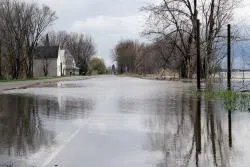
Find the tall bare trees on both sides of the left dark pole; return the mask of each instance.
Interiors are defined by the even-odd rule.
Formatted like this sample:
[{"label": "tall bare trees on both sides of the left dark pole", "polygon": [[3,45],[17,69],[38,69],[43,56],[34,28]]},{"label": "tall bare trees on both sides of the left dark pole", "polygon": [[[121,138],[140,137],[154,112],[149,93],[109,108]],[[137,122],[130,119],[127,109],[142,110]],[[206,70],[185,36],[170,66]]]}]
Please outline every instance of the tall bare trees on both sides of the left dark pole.
[{"label": "tall bare trees on both sides of the left dark pole", "polygon": [[182,77],[192,77],[195,60],[196,20],[202,23],[202,44],[204,70],[210,74],[218,61],[216,38],[232,18],[238,2],[233,0],[162,0],[158,5],[149,5],[143,10],[150,13],[144,35],[171,41],[174,53],[182,56],[180,71]]}]

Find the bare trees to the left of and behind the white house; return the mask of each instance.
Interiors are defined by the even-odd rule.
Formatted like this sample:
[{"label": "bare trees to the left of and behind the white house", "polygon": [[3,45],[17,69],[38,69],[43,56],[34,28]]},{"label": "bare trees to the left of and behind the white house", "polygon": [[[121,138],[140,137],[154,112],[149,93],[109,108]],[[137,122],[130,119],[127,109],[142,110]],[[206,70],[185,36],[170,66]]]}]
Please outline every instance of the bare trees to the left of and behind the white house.
[{"label": "bare trees to the left of and behind the white house", "polygon": [[[20,0],[0,1],[0,78],[32,78],[38,46],[46,44],[48,28],[57,20],[47,5]],[[74,56],[82,74],[95,54],[93,40],[77,33],[49,32],[49,45],[60,45]]]}]

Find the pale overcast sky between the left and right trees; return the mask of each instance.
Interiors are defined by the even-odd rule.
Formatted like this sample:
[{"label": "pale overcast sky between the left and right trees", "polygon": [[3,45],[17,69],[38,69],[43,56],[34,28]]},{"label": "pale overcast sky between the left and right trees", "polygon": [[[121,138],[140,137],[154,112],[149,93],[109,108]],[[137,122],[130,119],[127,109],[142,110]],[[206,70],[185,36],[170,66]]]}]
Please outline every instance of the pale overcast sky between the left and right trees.
[{"label": "pale overcast sky between the left and right trees", "polygon": [[[91,35],[97,56],[112,64],[111,50],[121,39],[138,39],[143,30],[145,13],[140,8],[159,0],[27,0],[44,3],[56,11],[59,19],[52,29]],[[237,11],[237,18],[248,20],[246,0]],[[143,40],[143,39],[142,39]]]}]

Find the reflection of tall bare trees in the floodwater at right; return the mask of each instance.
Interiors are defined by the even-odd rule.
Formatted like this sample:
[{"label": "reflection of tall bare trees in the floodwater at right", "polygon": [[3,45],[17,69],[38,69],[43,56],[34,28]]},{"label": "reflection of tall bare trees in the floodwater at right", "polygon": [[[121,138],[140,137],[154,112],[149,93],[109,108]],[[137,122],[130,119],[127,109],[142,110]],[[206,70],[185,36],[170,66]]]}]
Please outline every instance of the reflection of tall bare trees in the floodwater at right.
[{"label": "reflection of tall bare trees in the floodwater at right", "polygon": [[184,94],[166,101],[164,109],[153,104],[155,115],[147,122],[153,131],[149,148],[165,155],[158,166],[229,166],[230,137],[225,127],[231,120],[224,121],[227,117],[222,117],[219,104]]}]

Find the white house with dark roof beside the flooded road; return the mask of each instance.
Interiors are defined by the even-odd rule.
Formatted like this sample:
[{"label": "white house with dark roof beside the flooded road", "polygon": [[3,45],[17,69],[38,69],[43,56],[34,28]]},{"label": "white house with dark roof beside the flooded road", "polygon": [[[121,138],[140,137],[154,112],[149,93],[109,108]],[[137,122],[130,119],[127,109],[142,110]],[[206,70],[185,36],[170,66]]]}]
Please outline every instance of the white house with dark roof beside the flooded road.
[{"label": "white house with dark roof beside the flooded road", "polygon": [[38,47],[33,63],[35,77],[79,75],[73,56],[59,46]]}]

